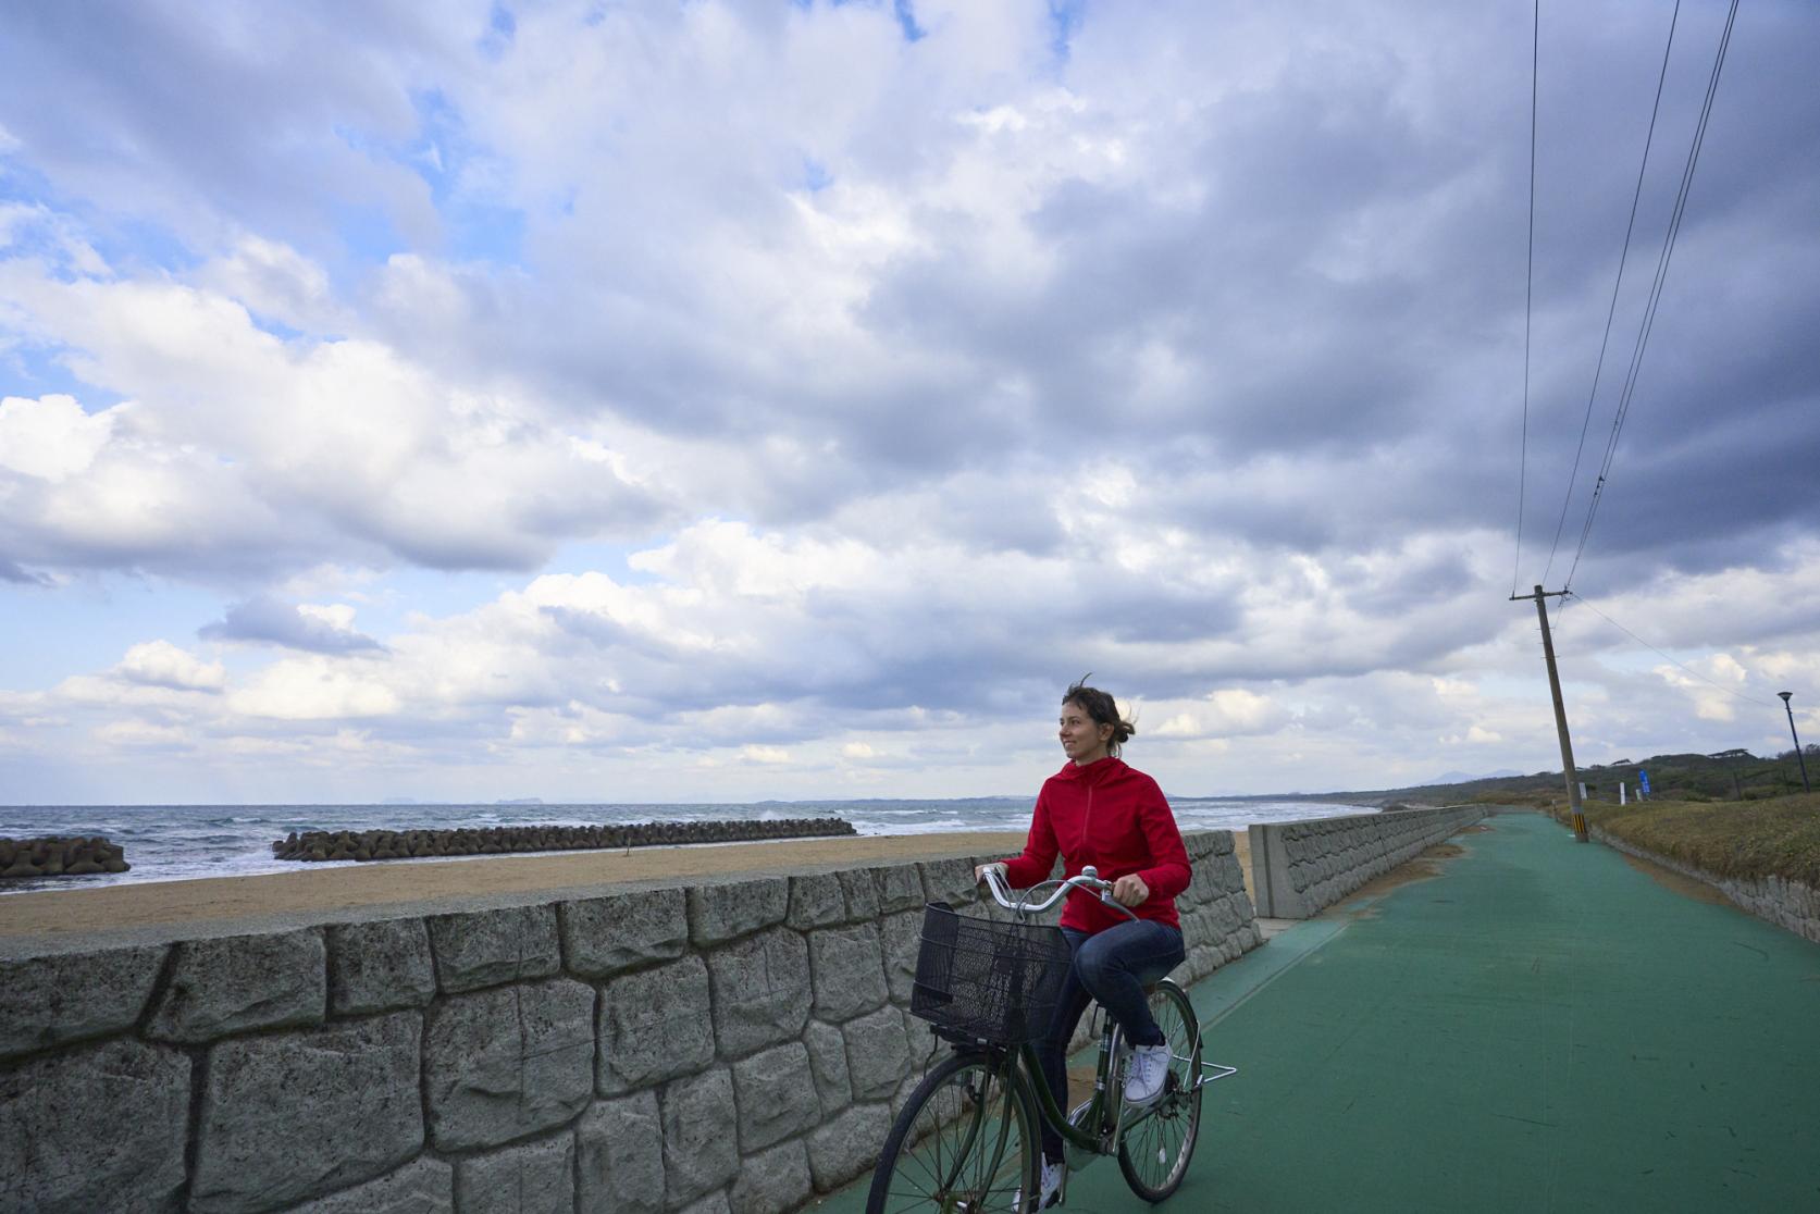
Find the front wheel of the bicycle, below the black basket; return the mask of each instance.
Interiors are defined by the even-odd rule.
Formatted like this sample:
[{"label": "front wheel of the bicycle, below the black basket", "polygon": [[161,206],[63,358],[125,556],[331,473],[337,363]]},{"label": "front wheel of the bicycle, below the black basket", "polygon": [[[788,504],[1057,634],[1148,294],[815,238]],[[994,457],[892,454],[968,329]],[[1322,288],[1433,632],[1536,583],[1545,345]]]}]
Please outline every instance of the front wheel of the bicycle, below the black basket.
[{"label": "front wheel of the bicycle, below the black basket", "polygon": [[1014,1057],[943,1059],[910,1094],[872,1172],[866,1214],[1014,1214],[1041,1145]]}]

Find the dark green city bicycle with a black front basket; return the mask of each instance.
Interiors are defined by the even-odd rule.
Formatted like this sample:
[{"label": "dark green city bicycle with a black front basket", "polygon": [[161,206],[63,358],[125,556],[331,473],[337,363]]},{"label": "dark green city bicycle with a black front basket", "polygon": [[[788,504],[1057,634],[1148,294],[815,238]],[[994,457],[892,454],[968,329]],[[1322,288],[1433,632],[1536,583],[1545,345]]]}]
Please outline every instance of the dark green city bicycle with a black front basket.
[{"label": "dark green city bicycle with a black front basket", "polygon": [[[1059,928],[1030,923],[1068,890],[1094,890],[1108,906],[1110,881],[1092,866],[1045,881],[1012,901],[997,870],[986,885],[1010,923],[963,917],[946,903],[923,912],[910,1012],[954,1045],[905,1101],[872,1174],[866,1214],[1030,1214],[1041,1201],[1037,1118],[1063,1138],[1070,1170],[1116,1154],[1125,1183],[1163,1201],[1188,1172],[1201,1125],[1201,1088],[1238,1074],[1201,1061],[1201,1027],[1181,986],[1147,986],[1150,1014],[1170,1047],[1163,1094],[1125,1108],[1121,1030],[1110,1016],[1099,1036],[1094,1094],[1067,1116],[1043,1081],[1032,1041],[1048,1030],[1072,952]],[[1030,897],[1059,886],[1041,903]],[[1067,1192],[1067,1190],[1063,1190]]]}]

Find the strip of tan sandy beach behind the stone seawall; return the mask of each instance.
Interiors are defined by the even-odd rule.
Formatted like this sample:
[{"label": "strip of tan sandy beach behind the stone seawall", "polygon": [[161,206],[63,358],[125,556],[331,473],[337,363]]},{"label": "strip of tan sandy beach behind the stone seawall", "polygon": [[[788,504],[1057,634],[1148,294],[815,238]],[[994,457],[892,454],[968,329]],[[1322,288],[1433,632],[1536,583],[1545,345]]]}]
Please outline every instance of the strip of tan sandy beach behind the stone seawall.
[{"label": "strip of tan sandy beach behind the stone seawall", "polygon": [[[257,877],[153,881],[0,895],[0,941],[58,939],[111,932],[317,919],[339,912],[384,912],[400,903],[513,899],[562,890],[728,877],[786,868],[846,868],[956,855],[1010,855],[1023,832],[779,839],[628,852],[550,852],[439,863],[371,863]],[[1234,832],[1250,877],[1245,832]]]}]

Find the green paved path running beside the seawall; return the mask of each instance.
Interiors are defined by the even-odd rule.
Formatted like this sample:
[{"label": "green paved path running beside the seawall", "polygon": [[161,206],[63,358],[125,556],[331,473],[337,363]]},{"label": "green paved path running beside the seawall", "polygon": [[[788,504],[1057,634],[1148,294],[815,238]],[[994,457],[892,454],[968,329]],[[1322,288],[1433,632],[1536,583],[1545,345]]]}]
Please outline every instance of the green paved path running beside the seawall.
[{"label": "green paved path running beside the seawall", "polygon": [[[1820,946],[1487,826],[1192,990],[1241,1072],[1167,1209],[1820,1210]],[[1065,1209],[1145,1203],[1105,1159]]]}]

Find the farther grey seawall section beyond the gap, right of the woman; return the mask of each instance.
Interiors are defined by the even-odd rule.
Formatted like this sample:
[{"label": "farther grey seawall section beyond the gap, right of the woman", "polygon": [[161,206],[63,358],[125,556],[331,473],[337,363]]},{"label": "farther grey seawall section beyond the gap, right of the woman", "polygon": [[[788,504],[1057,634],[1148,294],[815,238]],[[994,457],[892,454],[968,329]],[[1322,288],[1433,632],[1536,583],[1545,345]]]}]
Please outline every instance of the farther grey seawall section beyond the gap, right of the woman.
[{"label": "farther grey seawall section beyond the gap, right of the woman", "polygon": [[1258,914],[1265,919],[1320,914],[1481,817],[1481,806],[1447,806],[1256,825],[1250,859]]}]

